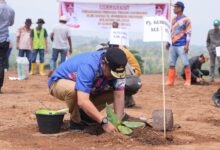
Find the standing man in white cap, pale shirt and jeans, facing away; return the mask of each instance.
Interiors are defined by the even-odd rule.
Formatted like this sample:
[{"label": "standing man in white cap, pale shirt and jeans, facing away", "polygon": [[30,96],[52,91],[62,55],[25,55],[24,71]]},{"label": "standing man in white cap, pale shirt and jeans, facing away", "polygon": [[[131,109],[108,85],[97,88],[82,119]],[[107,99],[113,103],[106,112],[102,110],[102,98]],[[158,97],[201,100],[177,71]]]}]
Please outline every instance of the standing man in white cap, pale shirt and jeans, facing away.
[{"label": "standing man in white cap, pale shirt and jeans, facing away", "polygon": [[61,56],[60,63],[63,63],[66,60],[68,50],[69,54],[72,54],[71,31],[70,28],[66,26],[68,19],[65,16],[61,16],[59,20],[60,23],[53,28],[53,31],[50,36],[53,42],[53,52],[50,62],[50,72],[48,76],[50,76],[56,68],[56,62],[59,54]]}]

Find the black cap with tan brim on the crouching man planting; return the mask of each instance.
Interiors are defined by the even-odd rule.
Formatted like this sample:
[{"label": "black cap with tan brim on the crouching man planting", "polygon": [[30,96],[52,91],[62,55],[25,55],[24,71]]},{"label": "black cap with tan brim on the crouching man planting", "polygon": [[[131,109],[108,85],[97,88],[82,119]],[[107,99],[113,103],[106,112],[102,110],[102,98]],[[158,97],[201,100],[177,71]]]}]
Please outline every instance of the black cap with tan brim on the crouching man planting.
[{"label": "black cap with tan brim on the crouching man planting", "polygon": [[125,53],[121,49],[116,47],[107,48],[104,61],[109,66],[113,77],[117,79],[125,78],[125,66],[128,60]]}]

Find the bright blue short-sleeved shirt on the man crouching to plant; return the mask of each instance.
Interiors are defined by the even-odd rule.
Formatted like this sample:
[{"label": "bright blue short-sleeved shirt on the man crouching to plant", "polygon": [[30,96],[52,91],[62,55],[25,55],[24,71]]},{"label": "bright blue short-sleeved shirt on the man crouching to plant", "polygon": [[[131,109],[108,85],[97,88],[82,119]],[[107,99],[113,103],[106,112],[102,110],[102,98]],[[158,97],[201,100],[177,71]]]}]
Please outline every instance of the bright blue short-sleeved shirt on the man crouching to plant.
[{"label": "bright blue short-sleeved shirt on the man crouching to plant", "polygon": [[107,80],[104,77],[101,68],[104,53],[105,51],[87,52],[68,59],[52,74],[48,86],[59,79],[67,79],[76,82],[76,90],[94,95],[110,89],[124,90],[125,79]]}]

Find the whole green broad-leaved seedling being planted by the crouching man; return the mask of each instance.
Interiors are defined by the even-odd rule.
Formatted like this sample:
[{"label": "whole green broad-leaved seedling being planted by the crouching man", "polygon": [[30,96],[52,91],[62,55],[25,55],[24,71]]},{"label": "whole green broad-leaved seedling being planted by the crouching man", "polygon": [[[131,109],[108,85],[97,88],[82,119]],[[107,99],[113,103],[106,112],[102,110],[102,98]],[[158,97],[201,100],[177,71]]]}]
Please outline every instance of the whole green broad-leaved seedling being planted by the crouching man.
[{"label": "whole green broad-leaved seedling being planted by the crouching man", "polygon": [[145,123],[143,122],[129,122],[129,121],[120,122],[117,115],[112,111],[112,109],[108,104],[106,104],[106,114],[109,121],[118,129],[118,131],[125,135],[132,134],[133,128],[145,126]]}]

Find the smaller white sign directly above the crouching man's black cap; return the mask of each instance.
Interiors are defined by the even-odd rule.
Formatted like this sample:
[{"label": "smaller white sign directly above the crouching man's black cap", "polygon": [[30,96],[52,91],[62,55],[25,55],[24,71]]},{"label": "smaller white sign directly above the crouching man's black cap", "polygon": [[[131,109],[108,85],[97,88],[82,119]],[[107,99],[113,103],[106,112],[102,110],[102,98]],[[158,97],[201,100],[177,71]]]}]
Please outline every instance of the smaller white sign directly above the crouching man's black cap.
[{"label": "smaller white sign directly above the crouching man's black cap", "polygon": [[110,33],[110,44],[129,47],[128,32],[124,29],[112,28]]}]

